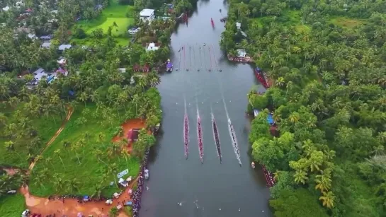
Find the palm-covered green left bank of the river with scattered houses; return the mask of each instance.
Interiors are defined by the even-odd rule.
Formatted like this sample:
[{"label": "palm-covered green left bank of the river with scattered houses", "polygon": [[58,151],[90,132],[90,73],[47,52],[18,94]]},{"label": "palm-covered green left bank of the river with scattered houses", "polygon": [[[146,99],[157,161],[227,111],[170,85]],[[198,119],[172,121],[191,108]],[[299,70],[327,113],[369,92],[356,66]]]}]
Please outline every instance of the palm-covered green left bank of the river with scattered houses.
[{"label": "palm-covered green left bank of the river with scattered houses", "polygon": [[[24,209],[21,194],[6,195],[22,183],[29,185],[31,194],[41,197],[110,197],[118,191],[118,172],[128,168],[125,177],[137,175],[144,152],[155,143],[148,132],[162,117],[156,88],[160,80],[153,69],[169,58],[175,25],[173,19],[140,21],[137,13],[147,4],[26,0],[23,6],[16,6],[16,1],[1,1],[1,8],[11,8],[0,11],[0,168],[21,169],[18,175],[1,173],[2,216],[20,215]],[[175,4],[191,7],[184,0]],[[119,19],[110,22],[115,18],[125,19],[125,23]],[[106,20],[110,23],[107,27]],[[125,33],[134,23],[141,30],[136,40],[130,41]],[[40,47],[42,41],[26,32],[16,33],[17,28],[28,28],[37,37],[52,35],[51,47]],[[147,51],[150,42],[160,48]],[[59,51],[64,43],[72,48]],[[59,64],[58,59],[66,59],[65,64]],[[149,66],[150,71],[135,71],[136,65]],[[50,82],[43,76],[36,85],[29,85],[35,81],[32,72],[39,68],[49,73],[65,69],[67,74],[59,73]],[[129,152],[127,140],[112,139],[122,136],[120,124],[135,118],[145,120],[146,126]],[[57,139],[46,146],[61,126],[64,129]],[[27,177],[30,163],[35,167]],[[16,206],[20,207],[15,211]]]}]

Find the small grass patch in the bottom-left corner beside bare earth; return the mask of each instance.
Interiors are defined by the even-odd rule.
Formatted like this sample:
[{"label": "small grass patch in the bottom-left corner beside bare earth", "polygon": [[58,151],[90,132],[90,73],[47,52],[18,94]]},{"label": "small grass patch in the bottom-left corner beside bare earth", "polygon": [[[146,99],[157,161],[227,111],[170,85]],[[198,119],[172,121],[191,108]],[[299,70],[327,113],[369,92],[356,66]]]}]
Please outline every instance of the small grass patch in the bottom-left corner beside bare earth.
[{"label": "small grass patch in the bottom-left corner beside bare earth", "polygon": [[1,217],[21,216],[25,209],[25,198],[23,194],[8,195],[0,198]]}]

